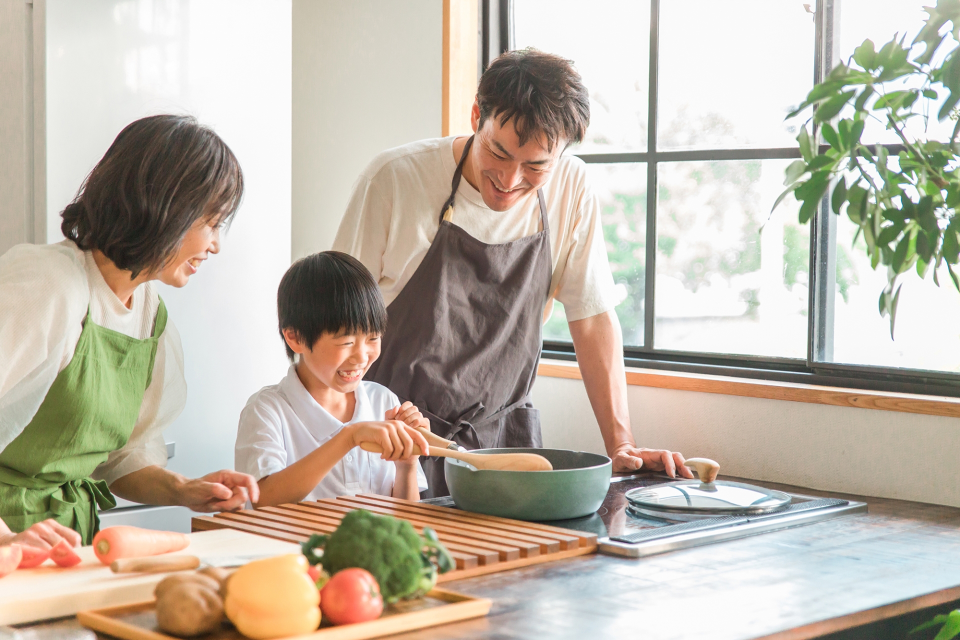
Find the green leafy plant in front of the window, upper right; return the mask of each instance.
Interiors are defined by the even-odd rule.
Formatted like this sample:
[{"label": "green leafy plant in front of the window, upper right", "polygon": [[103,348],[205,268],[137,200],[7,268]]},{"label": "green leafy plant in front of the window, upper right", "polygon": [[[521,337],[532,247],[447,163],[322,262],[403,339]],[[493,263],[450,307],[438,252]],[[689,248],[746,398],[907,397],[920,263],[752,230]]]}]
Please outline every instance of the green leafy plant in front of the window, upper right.
[{"label": "green leafy plant in front of the window, upper right", "polygon": [[[938,0],[924,11],[929,18],[912,43],[894,36],[876,50],[865,40],[787,116],[813,109],[797,136],[803,159],[787,168],[787,188],[774,204],[793,193],[803,202],[804,224],[828,197],[833,213],[846,213],[859,227],[873,268],[887,269],[878,307],[889,317],[891,338],[900,274],[932,273],[939,286],[938,272],[946,267],[960,291],[954,272],[960,261],[960,2]],[[950,30],[941,35],[948,23]],[[911,136],[907,121],[928,118],[929,107],[944,96],[935,117],[956,120],[950,139]],[[896,153],[861,140],[869,119],[897,134]]]}]

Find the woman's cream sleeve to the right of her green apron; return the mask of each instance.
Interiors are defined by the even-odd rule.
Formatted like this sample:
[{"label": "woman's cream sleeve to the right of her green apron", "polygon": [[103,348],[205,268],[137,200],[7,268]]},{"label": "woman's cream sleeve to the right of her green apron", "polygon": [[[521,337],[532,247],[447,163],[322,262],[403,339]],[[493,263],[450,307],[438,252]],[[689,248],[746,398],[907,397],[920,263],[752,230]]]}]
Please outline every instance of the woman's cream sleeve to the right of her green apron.
[{"label": "woman's cream sleeve to the right of her green apron", "polygon": [[167,445],[163,431],[176,420],[186,405],[186,379],[183,375],[183,347],[173,320],[156,344],[156,358],[150,386],[143,394],[140,415],[127,444],[110,453],[107,462],[97,467],[93,478],[112,485],[118,479],[148,466],[167,465]]}]

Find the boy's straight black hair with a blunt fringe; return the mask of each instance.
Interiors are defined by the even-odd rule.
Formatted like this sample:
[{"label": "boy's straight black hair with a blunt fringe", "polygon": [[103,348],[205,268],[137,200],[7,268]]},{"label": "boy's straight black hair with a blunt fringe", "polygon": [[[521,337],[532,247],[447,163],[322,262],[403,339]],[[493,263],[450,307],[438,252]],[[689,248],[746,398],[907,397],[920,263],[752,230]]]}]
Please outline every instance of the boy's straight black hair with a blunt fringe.
[{"label": "boy's straight black hair with a blunt fringe", "polygon": [[[387,308],[372,274],[340,251],[301,258],[283,274],[276,291],[280,338],[293,329],[311,347],[324,333],[376,333],[387,330]],[[287,357],[294,352],[283,339]]]}]

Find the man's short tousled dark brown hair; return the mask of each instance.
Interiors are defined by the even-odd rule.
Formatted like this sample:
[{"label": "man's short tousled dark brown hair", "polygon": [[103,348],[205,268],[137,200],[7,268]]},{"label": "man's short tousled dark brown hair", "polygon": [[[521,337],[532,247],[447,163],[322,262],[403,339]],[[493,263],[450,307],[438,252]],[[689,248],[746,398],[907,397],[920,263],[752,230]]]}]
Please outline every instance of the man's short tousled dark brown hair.
[{"label": "man's short tousled dark brown hair", "polygon": [[501,127],[513,119],[520,146],[542,133],[547,151],[559,140],[580,142],[590,124],[589,94],[573,62],[532,48],[490,63],[480,77],[477,105],[480,127],[490,117]]}]

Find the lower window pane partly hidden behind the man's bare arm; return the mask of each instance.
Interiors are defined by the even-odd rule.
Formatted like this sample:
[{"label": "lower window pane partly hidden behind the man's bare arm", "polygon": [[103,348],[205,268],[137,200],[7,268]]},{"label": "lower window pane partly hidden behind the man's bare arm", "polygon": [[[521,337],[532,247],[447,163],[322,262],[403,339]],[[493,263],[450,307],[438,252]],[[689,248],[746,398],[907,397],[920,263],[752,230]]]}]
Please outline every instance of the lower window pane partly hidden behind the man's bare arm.
[{"label": "lower window pane partly hidden behind the man's bare arm", "polygon": [[[588,164],[590,188],[600,201],[600,220],[616,283],[616,315],[623,344],[643,344],[643,295],[646,289],[647,165]],[[564,305],[556,302],[543,327],[544,340],[570,340]]]}]

